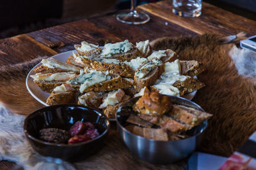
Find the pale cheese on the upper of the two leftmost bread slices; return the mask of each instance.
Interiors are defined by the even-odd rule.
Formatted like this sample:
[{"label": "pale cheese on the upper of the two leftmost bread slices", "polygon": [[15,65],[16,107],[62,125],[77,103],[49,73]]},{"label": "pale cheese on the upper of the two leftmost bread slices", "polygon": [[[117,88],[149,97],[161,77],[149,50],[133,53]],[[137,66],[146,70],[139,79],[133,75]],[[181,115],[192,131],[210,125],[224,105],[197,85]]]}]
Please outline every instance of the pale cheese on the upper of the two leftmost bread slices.
[{"label": "pale cheese on the upper of the two leftmost bread slices", "polygon": [[71,64],[66,64],[64,62],[61,62],[61,61],[53,59],[53,58],[51,58],[51,59],[42,59],[41,62],[42,62],[43,66],[49,67],[51,69],[58,68],[58,69],[65,69],[65,70],[74,71],[74,72],[80,70],[79,67],[73,66]]}]

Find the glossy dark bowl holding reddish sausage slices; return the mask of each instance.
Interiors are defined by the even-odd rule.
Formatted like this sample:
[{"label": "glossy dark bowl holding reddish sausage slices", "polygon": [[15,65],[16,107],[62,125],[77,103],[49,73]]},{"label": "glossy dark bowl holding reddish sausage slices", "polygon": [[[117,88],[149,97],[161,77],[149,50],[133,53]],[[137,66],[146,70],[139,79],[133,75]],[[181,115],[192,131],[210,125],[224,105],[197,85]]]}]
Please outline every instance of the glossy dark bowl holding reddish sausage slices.
[{"label": "glossy dark bowl holding reddish sausage slices", "polygon": [[109,128],[104,114],[77,104],[41,108],[24,120],[24,132],[36,152],[70,162],[98,152]]}]

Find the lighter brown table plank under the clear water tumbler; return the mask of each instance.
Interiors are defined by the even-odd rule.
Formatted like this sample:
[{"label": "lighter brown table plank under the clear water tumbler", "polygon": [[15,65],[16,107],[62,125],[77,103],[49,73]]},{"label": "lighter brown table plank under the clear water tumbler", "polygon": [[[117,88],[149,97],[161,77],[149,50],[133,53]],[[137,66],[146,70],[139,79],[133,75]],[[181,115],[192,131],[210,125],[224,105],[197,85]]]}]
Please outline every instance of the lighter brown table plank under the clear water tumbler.
[{"label": "lighter brown table plank under the clear water tumbler", "polygon": [[184,18],[174,15],[172,13],[172,1],[145,4],[138,6],[138,8],[198,34],[211,32],[230,35],[241,31],[256,34],[255,21],[230,13],[208,3],[203,3],[202,15],[198,18]]}]

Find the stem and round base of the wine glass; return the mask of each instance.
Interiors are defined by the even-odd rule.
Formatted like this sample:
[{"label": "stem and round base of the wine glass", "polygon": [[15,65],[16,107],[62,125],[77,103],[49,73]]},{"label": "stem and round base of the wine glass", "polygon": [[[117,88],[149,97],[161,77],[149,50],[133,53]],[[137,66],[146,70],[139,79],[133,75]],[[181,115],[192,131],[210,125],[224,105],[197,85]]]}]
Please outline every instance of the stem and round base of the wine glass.
[{"label": "stem and round base of the wine glass", "polygon": [[116,16],[116,19],[126,24],[145,24],[150,17],[146,13],[138,13],[135,10],[136,0],[131,0],[131,9]]}]

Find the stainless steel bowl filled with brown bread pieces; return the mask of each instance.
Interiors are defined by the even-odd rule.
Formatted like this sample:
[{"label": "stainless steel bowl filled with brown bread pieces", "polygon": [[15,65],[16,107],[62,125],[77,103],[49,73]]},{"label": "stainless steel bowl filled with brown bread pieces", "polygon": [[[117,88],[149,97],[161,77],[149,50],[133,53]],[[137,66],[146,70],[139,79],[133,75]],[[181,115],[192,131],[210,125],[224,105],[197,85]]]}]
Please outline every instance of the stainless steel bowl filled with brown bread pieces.
[{"label": "stainless steel bowl filled with brown bread pieces", "polygon": [[[154,108],[158,102],[163,104],[161,110]],[[194,152],[211,116],[187,99],[146,92],[118,108],[116,124],[125,145],[136,157],[153,164],[170,164]]]}]

